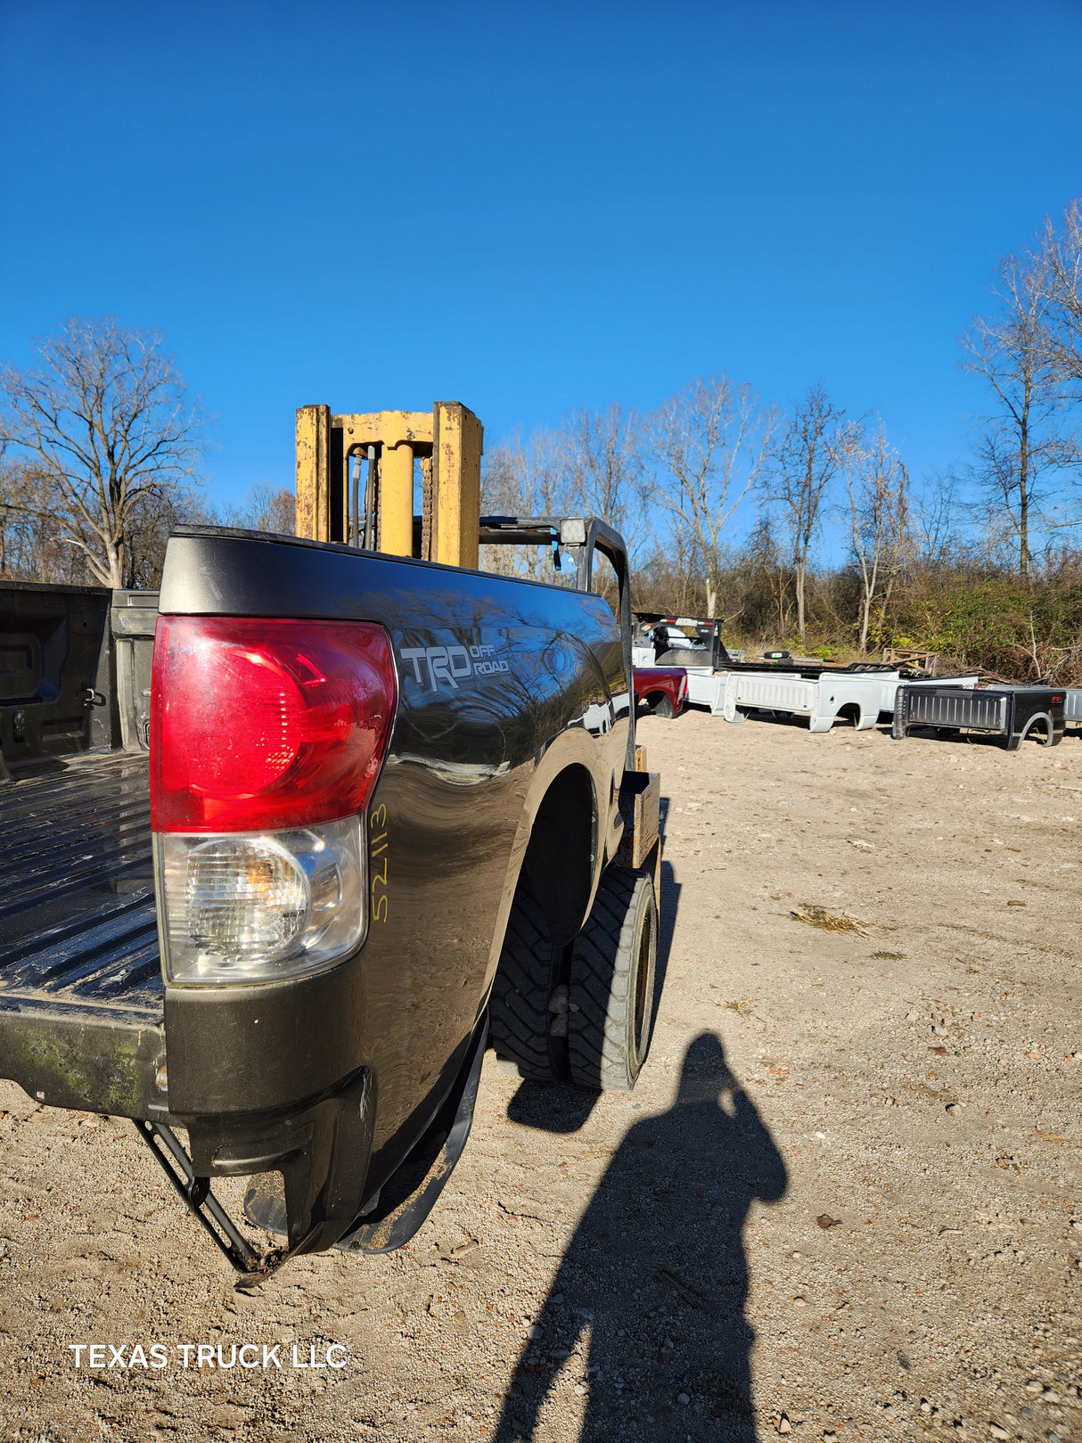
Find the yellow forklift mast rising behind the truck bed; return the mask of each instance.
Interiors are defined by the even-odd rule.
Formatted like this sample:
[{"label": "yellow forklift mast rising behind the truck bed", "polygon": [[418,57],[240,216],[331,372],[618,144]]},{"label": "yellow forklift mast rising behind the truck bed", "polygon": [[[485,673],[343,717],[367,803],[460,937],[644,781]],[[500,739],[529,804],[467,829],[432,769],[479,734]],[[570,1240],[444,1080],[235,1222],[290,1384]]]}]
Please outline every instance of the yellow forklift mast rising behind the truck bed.
[{"label": "yellow forklift mast rising behind the truck bed", "polygon": [[480,421],[459,401],[361,416],[302,405],[297,535],[476,570],[482,444]]}]

